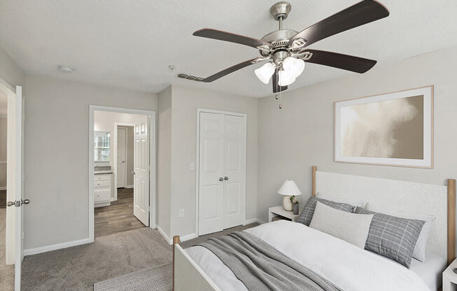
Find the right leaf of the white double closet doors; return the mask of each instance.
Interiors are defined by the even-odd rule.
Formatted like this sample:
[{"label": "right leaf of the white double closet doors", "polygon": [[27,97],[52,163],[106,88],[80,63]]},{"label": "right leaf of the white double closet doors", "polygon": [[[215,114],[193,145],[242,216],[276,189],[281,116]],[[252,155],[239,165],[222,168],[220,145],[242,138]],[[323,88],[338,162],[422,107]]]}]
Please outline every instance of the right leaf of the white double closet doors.
[{"label": "right leaf of the white double closet doors", "polygon": [[224,229],[242,225],[245,218],[245,118],[225,115]]}]

